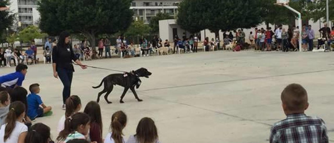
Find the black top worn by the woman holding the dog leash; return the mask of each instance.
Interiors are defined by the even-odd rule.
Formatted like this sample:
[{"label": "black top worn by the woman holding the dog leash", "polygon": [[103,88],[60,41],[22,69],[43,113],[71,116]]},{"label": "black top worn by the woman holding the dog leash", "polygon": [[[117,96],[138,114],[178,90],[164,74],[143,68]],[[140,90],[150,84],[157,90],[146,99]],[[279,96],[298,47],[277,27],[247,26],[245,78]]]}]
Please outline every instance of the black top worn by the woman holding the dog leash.
[{"label": "black top worn by the woman holding the dog leash", "polygon": [[76,61],[77,58],[74,56],[70,45],[66,44],[63,47],[57,46],[52,49],[52,63],[56,63],[56,70],[58,68],[65,68],[74,72],[72,60]]}]

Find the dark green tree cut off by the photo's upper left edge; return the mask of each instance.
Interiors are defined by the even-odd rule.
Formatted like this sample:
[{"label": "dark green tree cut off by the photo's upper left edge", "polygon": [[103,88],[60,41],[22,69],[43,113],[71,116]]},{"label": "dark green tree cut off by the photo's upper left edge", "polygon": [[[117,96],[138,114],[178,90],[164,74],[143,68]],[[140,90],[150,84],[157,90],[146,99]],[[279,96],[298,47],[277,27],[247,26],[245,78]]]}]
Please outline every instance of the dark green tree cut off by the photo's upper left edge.
[{"label": "dark green tree cut off by the photo's upper left edge", "polygon": [[[0,7],[7,7],[8,5],[9,0],[0,1]],[[14,18],[15,15],[10,14],[10,11],[7,8],[2,8],[2,10],[0,10],[0,37],[5,37],[4,35],[7,34],[6,29],[13,25]]]}]

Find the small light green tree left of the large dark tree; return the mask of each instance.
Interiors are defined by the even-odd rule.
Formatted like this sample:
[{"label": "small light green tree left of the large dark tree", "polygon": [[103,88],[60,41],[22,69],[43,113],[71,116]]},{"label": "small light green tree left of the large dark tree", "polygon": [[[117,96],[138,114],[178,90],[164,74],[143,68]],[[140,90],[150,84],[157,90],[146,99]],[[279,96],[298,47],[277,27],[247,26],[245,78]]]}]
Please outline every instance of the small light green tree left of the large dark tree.
[{"label": "small light green tree left of the large dark tree", "polygon": [[[30,25],[26,28],[24,28],[22,31],[20,31],[17,34],[17,38],[19,41],[23,42],[23,43],[28,43],[31,42],[34,39],[39,39],[39,38],[44,38],[47,36],[47,34],[45,33],[41,33],[41,30],[38,29],[38,27],[34,26],[34,25]],[[15,36],[10,37],[11,38],[15,38]]]}]

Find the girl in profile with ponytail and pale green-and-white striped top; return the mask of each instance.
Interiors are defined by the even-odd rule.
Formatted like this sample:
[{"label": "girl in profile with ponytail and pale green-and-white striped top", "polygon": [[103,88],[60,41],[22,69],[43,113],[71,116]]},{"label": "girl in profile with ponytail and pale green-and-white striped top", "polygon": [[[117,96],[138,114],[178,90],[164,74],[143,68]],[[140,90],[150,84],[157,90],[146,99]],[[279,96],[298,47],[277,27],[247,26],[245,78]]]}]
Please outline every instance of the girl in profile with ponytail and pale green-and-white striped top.
[{"label": "girl in profile with ponytail and pale green-and-white striped top", "polygon": [[90,128],[90,117],[86,113],[75,113],[65,120],[65,128],[59,133],[57,143],[66,143],[73,139],[86,139]]}]

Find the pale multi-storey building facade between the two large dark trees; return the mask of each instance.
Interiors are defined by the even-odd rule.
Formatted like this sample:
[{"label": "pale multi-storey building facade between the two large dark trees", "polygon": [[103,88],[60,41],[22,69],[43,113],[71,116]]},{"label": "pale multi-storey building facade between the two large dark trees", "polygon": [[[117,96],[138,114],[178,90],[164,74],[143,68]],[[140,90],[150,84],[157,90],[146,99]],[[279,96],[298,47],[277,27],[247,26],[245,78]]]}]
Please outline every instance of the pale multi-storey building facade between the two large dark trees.
[{"label": "pale multi-storey building facade between the two large dark trees", "polygon": [[177,5],[181,0],[134,0],[130,9],[134,12],[134,18],[143,20],[148,24],[151,18],[158,13],[168,13],[170,16],[176,16]]}]

